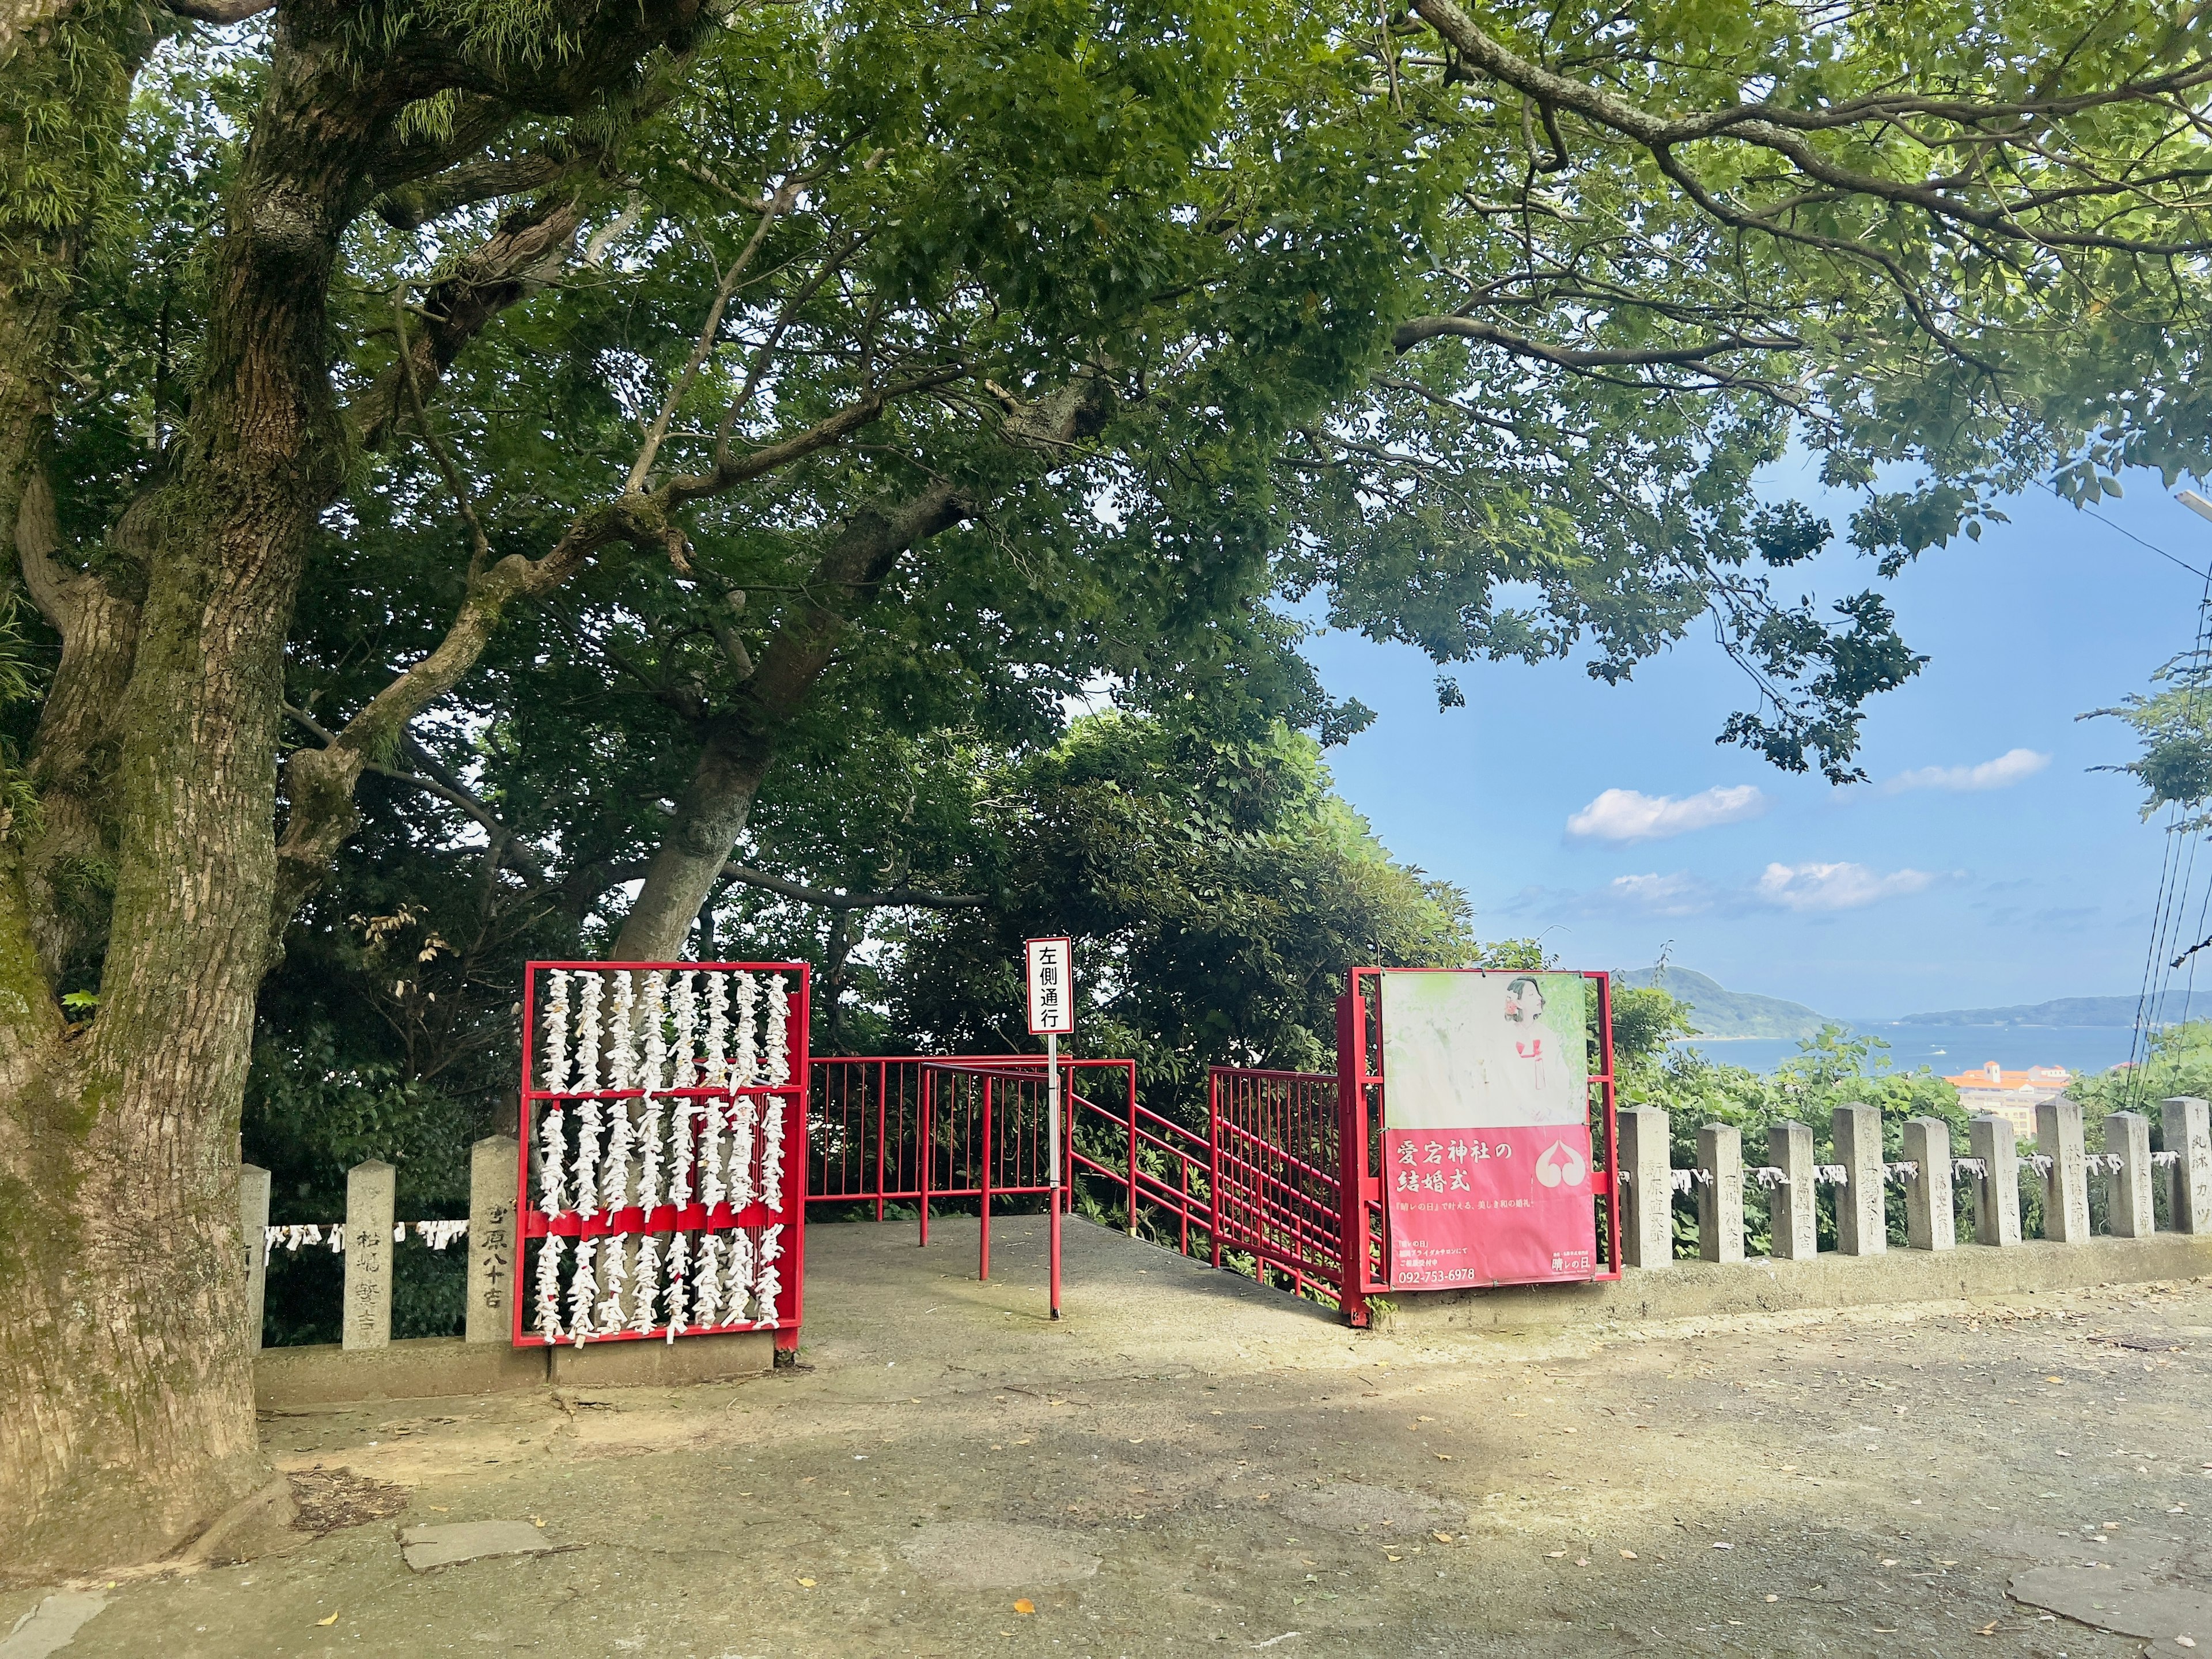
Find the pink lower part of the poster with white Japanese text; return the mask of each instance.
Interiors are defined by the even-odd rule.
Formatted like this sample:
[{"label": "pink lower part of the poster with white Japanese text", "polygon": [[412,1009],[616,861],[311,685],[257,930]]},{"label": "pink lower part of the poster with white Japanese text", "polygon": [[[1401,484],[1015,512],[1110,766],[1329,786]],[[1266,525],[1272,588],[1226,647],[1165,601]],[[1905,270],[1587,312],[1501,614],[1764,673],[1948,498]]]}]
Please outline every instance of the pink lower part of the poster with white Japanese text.
[{"label": "pink lower part of the poster with white Japanese text", "polygon": [[1383,1133],[1391,1285],[1526,1285],[1597,1272],[1590,1130]]}]

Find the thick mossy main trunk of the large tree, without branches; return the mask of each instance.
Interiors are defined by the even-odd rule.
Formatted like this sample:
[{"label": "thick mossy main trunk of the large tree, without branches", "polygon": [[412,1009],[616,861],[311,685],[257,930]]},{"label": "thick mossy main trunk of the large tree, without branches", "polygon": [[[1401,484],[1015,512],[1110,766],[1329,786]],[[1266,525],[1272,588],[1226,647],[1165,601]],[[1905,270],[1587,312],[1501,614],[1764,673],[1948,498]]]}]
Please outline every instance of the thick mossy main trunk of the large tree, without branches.
[{"label": "thick mossy main trunk of the large tree, without branches", "polygon": [[270,956],[283,644],[343,471],[325,294],[383,119],[285,33],[115,717],[100,1011],[38,1044],[7,1113],[0,1283],[29,1332],[0,1345],[15,1568],[159,1555],[268,1478],[237,1130]]}]

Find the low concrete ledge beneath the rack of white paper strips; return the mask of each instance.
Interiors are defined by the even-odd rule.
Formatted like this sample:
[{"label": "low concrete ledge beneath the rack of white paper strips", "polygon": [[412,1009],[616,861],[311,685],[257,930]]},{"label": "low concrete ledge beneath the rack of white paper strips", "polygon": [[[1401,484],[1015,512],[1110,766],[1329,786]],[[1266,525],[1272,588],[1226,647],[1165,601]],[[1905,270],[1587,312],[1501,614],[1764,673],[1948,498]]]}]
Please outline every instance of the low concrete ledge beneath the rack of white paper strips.
[{"label": "low concrete ledge beneath the rack of white paper strips", "polygon": [[770,1332],[560,1349],[465,1343],[458,1336],[416,1336],[352,1352],[338,1343],[314,1343],[261,1349],[254,1358],[254,1405],[263,1411],[292,1411],[352,1400],[436,1400],[542,1387],[728,1383],[768,1371],[774,1360]]}]

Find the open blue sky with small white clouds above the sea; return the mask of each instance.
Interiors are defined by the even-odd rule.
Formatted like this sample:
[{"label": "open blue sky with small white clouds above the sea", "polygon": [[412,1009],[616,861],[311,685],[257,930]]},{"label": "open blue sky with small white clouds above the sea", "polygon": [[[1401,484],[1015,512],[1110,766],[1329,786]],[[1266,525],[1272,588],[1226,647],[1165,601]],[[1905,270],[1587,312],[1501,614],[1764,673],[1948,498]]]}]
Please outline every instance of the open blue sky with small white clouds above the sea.
[{"label": "open blue sky with small white clouds above the sea", "polygon": [[[1871,785],[1714,745],[1750,681],[1705,628],[1617,688],[1579,661],[1478,664],[1467,708],[1442,712],[1416,650],[1318,635],[1329,690],[1380,712],[1332,752],[1336,785],[1398,858],[1471,894],[1486,938],[1542,933],[1566,967],[1670,947],[1730,989],[1847,1018],[2132,995],[2163,836],[2132,779],[2088,770],[2128,759],[2130,732],[2075,714],[2141,690],[2194,637],[2203,582],[2121,526],[2203,568],[2212,522],[2154,473],[2124,482],[2097,509],[2110,524],[2015,498],[2011,524],[1889,584],[1931,661],[1871,703]],[[1770,493],[1834,507],[1838,526],[1849,511],[1787,471]],[[1832,549],[1776,586],[1871,580]]]}]

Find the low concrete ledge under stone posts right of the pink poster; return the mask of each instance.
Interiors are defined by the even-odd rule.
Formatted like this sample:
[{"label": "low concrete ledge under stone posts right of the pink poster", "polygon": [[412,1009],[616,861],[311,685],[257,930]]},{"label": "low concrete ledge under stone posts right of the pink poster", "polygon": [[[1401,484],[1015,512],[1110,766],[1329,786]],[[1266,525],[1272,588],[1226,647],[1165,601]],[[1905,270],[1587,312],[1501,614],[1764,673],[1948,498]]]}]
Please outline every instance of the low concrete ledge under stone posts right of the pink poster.
[{"label": "low concrete ledge under stone posts right of the pink poster", "polygon": [[1820,1254],[1807,1261],[1670,1261],[1659,1270],[1630,1267],[1624,1279],[1604,1285],[1396,1292],[1385,1296],[1389,1314],[1376,1325],[1409,1336],[1447,1329],[1517,1332],[1595,1321],[1659,1323],[2013,1296],[2205,1274],[2212,1274],[2212,1237],[2185,1232],[2008,1248],[1962,1243],[1955,1250]]}]

